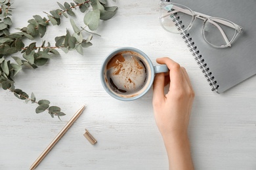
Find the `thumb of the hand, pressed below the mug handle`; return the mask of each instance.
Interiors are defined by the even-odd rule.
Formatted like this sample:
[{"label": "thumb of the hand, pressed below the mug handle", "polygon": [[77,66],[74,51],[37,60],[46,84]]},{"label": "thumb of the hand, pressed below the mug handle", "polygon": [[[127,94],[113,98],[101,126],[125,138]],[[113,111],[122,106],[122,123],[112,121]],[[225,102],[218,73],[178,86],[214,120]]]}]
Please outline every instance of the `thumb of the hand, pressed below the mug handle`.
[{"label": "thumb of the hand, pressed below the mug handle", "polygon": [[162,103],[165,99],[164,94],[165,75],[164,73],[156,74],[153,84],[153,103]]}]

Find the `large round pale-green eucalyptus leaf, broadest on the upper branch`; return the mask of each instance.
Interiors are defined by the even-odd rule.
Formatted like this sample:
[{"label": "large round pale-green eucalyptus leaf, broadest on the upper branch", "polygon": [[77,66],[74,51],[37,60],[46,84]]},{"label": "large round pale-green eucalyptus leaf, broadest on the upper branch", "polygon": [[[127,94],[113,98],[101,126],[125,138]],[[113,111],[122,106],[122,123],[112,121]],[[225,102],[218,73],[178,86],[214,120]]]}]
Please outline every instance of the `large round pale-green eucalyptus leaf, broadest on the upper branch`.
[{"label": "large round pale-green eucalyptus leaf, broadest on the upper branch", "polygon": [[91,10],[85,14],[83,18],[85,25],[88,25],[89,29],[95,31],[100,22],[100,10]]}]

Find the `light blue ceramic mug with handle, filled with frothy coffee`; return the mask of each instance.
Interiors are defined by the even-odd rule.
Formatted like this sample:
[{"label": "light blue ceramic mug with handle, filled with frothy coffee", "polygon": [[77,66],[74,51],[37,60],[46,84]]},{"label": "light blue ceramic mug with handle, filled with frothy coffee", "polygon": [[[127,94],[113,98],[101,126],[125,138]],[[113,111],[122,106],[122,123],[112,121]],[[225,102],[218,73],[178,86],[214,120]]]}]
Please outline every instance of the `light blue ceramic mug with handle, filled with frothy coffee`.
[{"label": "light blue ceramic mug with handle, filled with frothy coffee", "polygon": [[144,52],[133,47],[114,50],[102,63],[100,80],[112,97],[139,99],[150,90],[156,73],[169,72],[167,65],[153,65]]}]

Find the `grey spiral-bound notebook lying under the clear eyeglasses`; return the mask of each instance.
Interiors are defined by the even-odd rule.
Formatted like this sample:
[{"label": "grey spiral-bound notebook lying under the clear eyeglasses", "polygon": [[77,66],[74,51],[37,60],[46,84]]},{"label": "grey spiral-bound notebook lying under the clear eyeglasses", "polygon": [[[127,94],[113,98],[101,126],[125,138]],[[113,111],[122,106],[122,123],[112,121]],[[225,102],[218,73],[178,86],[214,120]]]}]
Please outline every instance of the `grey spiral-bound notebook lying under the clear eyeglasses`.
[{"label": "grey spiral-bound notebook lying under the clear eyeglasses", "polygon": [[[174,0],[196,12],[230,20],[244,27],[231,47],[213,48],[204,41],[203,20],[196,18],[182,38],[192,51],[211,90],[223,93],[256,74],[255,0]],[[182,16],[180,18],[182,20]],[[191,38],[191,39],[190,39]],[[253,78],[256,78],[253,76]]]}]

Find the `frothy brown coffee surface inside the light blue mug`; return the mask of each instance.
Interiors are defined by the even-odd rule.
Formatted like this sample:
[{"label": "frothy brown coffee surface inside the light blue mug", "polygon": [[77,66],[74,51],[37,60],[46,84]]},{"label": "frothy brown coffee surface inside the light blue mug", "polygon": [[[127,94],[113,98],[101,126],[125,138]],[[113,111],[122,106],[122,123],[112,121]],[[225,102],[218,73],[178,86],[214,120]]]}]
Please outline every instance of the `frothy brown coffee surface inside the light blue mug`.
[{"label": "frothy brown coffee surface inside the light blue mug", "polygon": [[112,90],[131,96],[144,87],[147,71],[142,56],[130,51],[117,53],[106,66],[106,76]]}]

